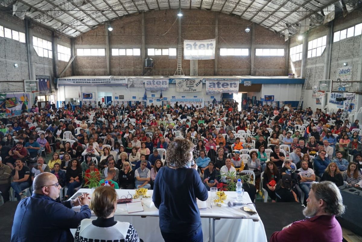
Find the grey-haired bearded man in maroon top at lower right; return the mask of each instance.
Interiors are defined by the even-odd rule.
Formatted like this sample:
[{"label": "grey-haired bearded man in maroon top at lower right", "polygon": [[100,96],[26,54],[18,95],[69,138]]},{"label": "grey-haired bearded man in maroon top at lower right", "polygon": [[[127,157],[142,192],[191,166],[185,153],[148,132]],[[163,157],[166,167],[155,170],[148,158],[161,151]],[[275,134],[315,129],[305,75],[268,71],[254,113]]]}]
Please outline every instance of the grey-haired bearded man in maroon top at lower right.
[{"label": "grey-haired bearded man in maroon top at lower right", "polygon": [[331,181],[313,182],[307,207],[303,210],[306,219],[285,226],[274,232],[270,242],[328,241],[341,242],[342,229],[335,216],[344,213],[342,195]]}]

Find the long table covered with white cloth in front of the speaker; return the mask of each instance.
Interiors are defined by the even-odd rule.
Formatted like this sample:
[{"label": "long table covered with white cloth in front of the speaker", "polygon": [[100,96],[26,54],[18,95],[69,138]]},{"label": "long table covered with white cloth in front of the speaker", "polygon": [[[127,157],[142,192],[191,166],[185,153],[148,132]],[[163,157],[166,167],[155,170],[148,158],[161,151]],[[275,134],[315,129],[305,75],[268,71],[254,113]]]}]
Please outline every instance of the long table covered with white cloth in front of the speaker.
[{"label": "long table covered with white cloth in front of the speaker", "polygon": [[[118,197],[135,194],[135,190],[116,189]],[[87,192],[92,197],[91,189],[79,189],[78,192]],[[126,204],[118,204],[114,214],[115,220],[130,222],[136,229],[139,237],[147,242],[164,241],[159,227],[159,211],[152,202],[152,190],[147,191],[150,198],[142,198],[143,212],[128,213]],[[221,207],[212,204],[209,192],[207,209],[200,210],[203,241],[255,241],[267,242],[264,225],[258,214],[250,216],[240,209],[241,206],[228,207],[228,201],[235,202],[235,192],[225,192],[226,201]],[[256,210],[248,193],[244,193],[243,203],[250,203],[245,206]],[[80,211],[80,206],[73,207],[73,210]],[[95,215],[92,211],[92,219]],[[75,229],[72,230],[75,233]]]}]

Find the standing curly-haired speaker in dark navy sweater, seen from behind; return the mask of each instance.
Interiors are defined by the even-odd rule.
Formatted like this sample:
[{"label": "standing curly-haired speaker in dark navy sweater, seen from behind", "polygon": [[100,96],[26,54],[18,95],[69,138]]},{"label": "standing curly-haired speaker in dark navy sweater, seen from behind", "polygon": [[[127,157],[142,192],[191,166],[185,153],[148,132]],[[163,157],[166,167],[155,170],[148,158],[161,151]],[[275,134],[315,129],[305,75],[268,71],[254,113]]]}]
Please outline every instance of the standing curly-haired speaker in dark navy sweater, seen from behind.
[{"label": "standing curly-haired speaker in dark navy sweater, seen from behind", "polygon": [[167,150],[166,166],[155,179],[152,200],[159,209],[165,242],[203,241],[196,198],[206,201],[208,194],[197,165],[191,167],[193,146],[187,139],[174,139]]}]

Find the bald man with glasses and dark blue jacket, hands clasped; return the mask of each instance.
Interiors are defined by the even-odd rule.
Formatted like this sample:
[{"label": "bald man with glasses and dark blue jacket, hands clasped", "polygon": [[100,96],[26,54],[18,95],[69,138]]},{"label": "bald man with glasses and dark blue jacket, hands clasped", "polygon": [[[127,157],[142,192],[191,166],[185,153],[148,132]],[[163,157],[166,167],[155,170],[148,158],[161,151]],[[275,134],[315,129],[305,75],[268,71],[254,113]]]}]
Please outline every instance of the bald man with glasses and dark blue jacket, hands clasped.
[{"label": "bald man with glasses and dark blue jacket, hands clasped", "polygon": [[[33,195],[21,200],[16,208],[11,241],[74,241],[70,229],[90,218],[88,194],[74,201],[58,203],[61,185],[54,174],[40,173],[33,181]],[[80,212],[71,208],[81,205]],[[34,222],[36,221],[36,225]]]}]

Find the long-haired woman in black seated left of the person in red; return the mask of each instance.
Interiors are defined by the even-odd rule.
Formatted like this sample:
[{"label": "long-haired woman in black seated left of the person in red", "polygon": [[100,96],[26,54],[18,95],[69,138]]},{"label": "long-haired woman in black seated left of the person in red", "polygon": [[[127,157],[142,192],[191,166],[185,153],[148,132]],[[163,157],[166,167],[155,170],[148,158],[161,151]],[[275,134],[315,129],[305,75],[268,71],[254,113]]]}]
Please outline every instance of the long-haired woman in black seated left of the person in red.
[{"label": "long-haired woman in black seated left of the person in red", "polygon": [[67,167],[67,195],[64,196],[64,201],[73,196],[74,189],[82,185],[82,168],[80,162],[77,159],[72,159],[71,166]]}]

